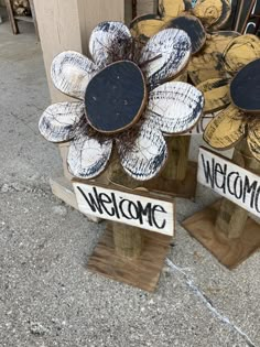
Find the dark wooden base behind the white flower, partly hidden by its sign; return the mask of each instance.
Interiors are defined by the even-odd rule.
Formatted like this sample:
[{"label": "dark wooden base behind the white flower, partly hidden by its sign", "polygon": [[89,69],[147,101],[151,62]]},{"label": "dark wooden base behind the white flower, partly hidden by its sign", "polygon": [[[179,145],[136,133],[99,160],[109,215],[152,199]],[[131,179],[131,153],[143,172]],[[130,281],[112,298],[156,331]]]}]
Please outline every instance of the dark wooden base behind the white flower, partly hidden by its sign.
[{"label": "dark wooden base behind the white flower, partly hidden by its sign", "polygon": [[143,186],[151,192],[160,194],[193,198],[197,187],[197,163],[188,162],[186,177],[183,181],[159,176],[145,182]]}]

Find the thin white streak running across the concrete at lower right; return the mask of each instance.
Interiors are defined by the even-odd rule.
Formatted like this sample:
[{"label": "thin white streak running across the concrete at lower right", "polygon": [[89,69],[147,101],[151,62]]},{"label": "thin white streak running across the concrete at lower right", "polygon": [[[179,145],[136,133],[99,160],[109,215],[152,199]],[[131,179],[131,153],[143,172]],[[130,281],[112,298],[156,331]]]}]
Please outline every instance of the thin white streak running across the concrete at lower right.
[{"label": "thin white streak running across the concrete at lower right", "polygon": [[230,322],[230,319],[223,314],[220,314],[213,305],[210,300],[194,284],[193,280],[177,265],[175,265],[170,259],[165,260],[166,265],[172,270],[172,272],[181,273],[185,280],[185,284],[189,290],[207,306],[207,308],[216,316],[220,322],[227,324],[232,330],[236,330],[247,343],[249,347],[257,347],[253,341],[245,334],[238,326]]}]

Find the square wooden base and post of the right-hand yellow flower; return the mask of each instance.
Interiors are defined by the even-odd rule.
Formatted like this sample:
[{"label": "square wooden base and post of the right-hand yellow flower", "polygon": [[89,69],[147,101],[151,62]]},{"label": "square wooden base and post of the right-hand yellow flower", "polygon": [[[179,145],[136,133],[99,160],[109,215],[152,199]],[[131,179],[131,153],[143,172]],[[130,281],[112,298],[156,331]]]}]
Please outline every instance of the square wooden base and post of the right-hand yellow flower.
[{"label": "square wooden base and post of the right-hand yellow flower", "polygon": [[[247,142],[235,149],[232,162],[260,174]],[[223,198],[182,223],[183,227],[228,269],[236,268],[260,248],[260,225],[242,207]]]}]

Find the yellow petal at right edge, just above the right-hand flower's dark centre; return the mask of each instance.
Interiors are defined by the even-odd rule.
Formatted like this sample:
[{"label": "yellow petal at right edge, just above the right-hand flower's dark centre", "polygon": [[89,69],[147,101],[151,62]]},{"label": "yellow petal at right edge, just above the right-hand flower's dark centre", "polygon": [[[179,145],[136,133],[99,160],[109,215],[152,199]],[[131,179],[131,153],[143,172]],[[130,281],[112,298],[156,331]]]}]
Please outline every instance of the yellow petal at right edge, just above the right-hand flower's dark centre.
[{"label": "yellow petal at right edge, just above the right-hand flower's dark centre", "polygon": [[236,74],[245,65],[259,57],[260,40],[251,34],[234,39],[223,54],[225,68],[230,74]]}]

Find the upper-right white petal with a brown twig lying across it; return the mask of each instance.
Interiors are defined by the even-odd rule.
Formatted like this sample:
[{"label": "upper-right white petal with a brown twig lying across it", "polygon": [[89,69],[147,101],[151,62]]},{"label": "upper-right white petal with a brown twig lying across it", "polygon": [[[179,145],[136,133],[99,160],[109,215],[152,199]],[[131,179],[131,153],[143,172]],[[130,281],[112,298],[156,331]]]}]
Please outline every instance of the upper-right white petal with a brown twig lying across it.
[{"label": "upper-right white petal with a brown twig lying across it", "polygon": [[191,40],[183,30],[165,29],[152,36],[139,62],[150,89],[177,75],[187,65],[191,52]]}]

